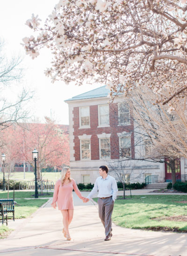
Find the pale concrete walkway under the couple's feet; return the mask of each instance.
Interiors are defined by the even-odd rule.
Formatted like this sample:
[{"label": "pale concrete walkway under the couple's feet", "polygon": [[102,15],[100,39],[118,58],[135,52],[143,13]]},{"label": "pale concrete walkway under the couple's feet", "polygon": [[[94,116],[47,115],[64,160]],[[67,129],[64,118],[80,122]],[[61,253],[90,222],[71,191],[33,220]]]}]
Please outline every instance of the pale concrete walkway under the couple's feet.
[{"label": "pale concrete walkway under the couple's feet", "polygon": [[65,240],[61,213],[50,207],[49,199],[32,217],[8,222],[15,230],[0,240],[0,256],[187,256],[186,233],[131,230],[113,224],[112,240],[104,241],[97,205],[73,196],[71,241]]}]

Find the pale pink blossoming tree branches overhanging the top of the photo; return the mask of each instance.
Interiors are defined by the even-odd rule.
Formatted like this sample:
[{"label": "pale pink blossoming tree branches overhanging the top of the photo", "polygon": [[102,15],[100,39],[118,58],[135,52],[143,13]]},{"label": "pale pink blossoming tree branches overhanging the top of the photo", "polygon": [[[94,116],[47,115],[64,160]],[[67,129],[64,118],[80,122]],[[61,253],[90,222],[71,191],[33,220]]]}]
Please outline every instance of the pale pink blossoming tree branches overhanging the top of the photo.
[{"label": "pale pink blossoming tree branches overhanging the top of the photo", "polygon": [[111,98],[146,85],[173,108],[187,94],[186,2],[60,0],[43,27],[38,16],[26,22],[36,35],[23,45],[33,59],[52,51],[52,82],[99,82]]}]

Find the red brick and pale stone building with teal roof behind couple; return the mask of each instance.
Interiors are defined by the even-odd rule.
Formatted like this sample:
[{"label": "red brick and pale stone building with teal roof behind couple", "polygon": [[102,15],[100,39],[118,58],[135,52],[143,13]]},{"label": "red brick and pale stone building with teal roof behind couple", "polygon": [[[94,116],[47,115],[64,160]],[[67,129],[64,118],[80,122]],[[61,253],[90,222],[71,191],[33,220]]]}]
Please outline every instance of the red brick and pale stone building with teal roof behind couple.
[{"label": "red brick and pale stone building with teal roof behind couple", "polygon": [[[102,86],[65,101],[69,105],[70,167],[77,183],[94,183],[99,166],[118,163],[124,155],[138,159],[140,152],[146,150],[146,145],[137,144],[136,127],[124,97],[108,104],[108,93],[106,86]],[[149,175],[157,175],[158,182],[170,178],[171,170],[164,163],[129,161],[133,161],[133,171],[129,167],[128,174],[128,166],[124,168],[133,182],[144,182]],[[182,174],[184,164],[180,160]]]}]

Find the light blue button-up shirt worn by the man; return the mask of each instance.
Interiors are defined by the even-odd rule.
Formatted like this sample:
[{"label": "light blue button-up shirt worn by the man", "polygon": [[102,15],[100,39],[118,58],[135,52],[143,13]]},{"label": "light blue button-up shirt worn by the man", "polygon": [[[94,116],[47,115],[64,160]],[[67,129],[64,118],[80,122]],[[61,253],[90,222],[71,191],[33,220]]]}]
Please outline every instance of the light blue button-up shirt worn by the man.
[{"label": "light blue button-up shirt worn by the man", "polygon": [[118,192],[115,178],[110,175],[108,175],[107,178],[102,178],[101,176],[98,177],[95,180],[94,187],[87,198],[92,198],[98,190],[98,197],[109,197],[112,195],[112,199],[115,202],[116,194]]}]

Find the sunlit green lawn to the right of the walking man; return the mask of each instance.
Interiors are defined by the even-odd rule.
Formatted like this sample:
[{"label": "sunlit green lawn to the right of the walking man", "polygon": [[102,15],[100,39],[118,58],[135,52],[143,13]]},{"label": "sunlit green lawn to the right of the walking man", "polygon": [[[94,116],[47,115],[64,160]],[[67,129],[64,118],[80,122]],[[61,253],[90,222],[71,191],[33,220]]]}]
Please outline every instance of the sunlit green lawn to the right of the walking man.
[{"label": "sunlit green lawn to the right of the walking man", "polygon": [[[187,195],[135,195],[130,200],[116,200],[112,220],[132,229],[187,232],[187,222],[175,220],[187,216]],[[94,199],[97,201],[97,199]],[[173,220],[167,217],[173,216]]]}]

